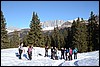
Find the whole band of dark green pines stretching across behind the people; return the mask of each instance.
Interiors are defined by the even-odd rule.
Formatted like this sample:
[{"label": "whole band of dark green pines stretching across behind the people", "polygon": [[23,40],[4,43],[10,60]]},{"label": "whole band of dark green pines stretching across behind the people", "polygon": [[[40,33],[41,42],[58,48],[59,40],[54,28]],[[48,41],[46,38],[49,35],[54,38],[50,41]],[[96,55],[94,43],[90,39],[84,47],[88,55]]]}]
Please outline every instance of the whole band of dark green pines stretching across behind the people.
[{"label": "whole band of dark green pines stretching across behind the people", "polygon": [[21,39],[18,31],[14,31],[12,37],[8,37],[6,21],[1,11],[1,49],[15,48],[23,42],[24,46],[33,45],[34,47],[47,45],[58,49],[77,47],[79,52],[99,50],[99,24],[96,18],[97,15],[91,11],[88,23],[78,17],[77,20],[73,20],[71,27],[60,29],[56,26],[53,31],[44,33],[37,13],[33,12],[29,25],[30,31]]}]

